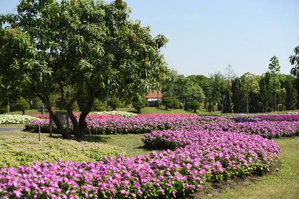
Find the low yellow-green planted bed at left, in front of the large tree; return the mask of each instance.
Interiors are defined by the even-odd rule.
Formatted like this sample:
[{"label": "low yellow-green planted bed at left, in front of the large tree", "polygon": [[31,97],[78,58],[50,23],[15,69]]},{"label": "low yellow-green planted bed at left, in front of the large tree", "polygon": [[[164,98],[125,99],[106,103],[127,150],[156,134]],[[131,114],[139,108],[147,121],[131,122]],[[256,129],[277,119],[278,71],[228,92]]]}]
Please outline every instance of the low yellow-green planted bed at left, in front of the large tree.
[{"label": "low yellow-green planted bed at left, in front of the large tree", "polygon": [[57,160],[75,162],[101,161],[104,156],[118,157],[124,154],[120,148],[96,142],[77,142],[74,140],[0,136],[0,168],[20,165],[31,166],[33,162],[57,162]]}]

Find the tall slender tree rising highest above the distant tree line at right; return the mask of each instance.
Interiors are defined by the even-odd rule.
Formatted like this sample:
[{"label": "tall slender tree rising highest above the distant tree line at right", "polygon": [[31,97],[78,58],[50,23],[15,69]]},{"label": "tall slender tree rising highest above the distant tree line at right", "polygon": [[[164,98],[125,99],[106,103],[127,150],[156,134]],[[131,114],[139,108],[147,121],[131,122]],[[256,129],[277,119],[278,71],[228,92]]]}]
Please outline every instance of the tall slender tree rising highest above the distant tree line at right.
[{"label": "tall slender tree rising highest above the distant tree line at right", "polygon": [[270,82],[272,85],[272,90],[275,93],[275,111],[277,111],[277,93],[278,92],[285,92],[284,89],[281,89],[280,81],[284,81],[285,77],[280,75],[280,65],[279,61],[276,56],[273,56],[270,59],[269,70],[270,70]]}]

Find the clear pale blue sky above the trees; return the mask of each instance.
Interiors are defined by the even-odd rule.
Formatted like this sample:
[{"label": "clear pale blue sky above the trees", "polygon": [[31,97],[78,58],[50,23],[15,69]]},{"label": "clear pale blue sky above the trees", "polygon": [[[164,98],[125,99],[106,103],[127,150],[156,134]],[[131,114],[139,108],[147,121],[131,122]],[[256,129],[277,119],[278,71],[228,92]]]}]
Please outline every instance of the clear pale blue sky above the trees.
[{"label": "clear pale blue sky above the trees", "polygon": [[[13,12],[19,0],[0,0],[0,13]],[[110,0],[106,0],[109,2]],[[130,18],[168,38],[162,50],[179,74],[222,72],[262,75],[277,56],[282,74],[299,45],[299,0],[125,0]]]}]

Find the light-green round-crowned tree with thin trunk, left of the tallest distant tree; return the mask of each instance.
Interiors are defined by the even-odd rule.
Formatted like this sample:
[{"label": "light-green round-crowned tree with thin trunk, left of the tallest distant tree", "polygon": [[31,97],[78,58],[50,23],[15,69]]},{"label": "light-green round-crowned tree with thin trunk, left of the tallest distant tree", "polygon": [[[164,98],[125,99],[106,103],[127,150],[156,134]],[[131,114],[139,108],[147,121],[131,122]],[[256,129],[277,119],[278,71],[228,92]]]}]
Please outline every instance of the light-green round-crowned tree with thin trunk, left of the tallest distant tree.
[{"label": "light-green round-crowned tree with thin trunk, left of the tallest distant tree", "polygon": [[254,75],[252,73],[245,73],[241,76],[241,90],[246,94],[246,101],[247,101],[247,113],[249,113],[249,100],[248,96],[249,93],[256,93],[258,94],[260,91],[259,87],[259,76]]}]

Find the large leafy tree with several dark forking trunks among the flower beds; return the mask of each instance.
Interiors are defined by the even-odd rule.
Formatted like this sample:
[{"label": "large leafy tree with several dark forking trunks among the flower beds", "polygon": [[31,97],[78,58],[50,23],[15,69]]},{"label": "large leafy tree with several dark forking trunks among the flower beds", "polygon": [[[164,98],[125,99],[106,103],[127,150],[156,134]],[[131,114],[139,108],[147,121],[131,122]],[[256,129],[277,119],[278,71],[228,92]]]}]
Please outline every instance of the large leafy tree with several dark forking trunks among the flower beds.
[{"label": "large leafy tree with several dark forking trunks among the flower beds", "polygon": [[[123,0],[21,0],[15,14],[0,15],[0,70],[10,70],[7,75],[16,80],[18,91],[38,96],[69,138],[49,102],[50,94],[57,93],[74,135],[84,136],[95,99],[107,93],[141,98],[168,71],[160,52],[167,39],[152,37],[149,27],[129,18],[130,12]],[[9,78],[0,81],[12,88]],[[72,104],[80,96],[88,100],[77,121]]]}]

